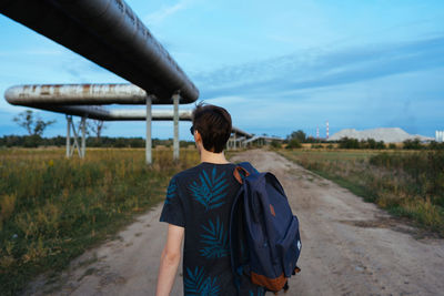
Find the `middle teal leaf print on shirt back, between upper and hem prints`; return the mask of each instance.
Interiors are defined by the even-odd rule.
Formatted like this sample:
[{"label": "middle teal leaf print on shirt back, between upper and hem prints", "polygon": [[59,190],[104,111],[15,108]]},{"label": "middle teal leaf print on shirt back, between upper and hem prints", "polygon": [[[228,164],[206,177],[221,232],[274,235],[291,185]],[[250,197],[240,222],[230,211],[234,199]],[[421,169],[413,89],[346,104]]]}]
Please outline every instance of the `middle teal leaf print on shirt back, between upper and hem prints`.
[{"label": "middle teal leaf print on shirt back, between upper and hem prints", "polygon": [[206,258],[221,258],[229,254],[228,232],[223,229],[223,223],[219,217],[215,224],[209,220],[208,225],[202,225],[204,232],[201,234],[201,243],[204,245],[199,249]]}]

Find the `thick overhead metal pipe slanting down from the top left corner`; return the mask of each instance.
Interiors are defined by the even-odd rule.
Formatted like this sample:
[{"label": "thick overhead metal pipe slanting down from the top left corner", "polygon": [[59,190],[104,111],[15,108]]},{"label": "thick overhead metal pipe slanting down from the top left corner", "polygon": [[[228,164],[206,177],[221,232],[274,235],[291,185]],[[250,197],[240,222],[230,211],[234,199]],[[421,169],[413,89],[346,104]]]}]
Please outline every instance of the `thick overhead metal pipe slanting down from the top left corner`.
[{"label": "thick overhead metal pipe slanting down from the top left corner", "polygon": [[[170,104],[199,90],[122,0],[4,0],[0,12]],[[158,102],[157,102],[158,103]]]}]

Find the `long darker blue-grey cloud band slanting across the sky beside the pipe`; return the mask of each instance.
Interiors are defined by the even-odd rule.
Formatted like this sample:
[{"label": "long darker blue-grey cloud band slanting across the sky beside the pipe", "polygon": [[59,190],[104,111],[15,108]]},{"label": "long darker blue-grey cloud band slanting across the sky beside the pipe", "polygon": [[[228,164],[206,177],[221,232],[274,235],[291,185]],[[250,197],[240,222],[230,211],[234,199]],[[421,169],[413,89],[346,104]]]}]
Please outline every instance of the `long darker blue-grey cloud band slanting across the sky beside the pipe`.
[{"label": "long darker blue-grey cloud band slanting across the sky beside the pipe", "polygon": [[404,43],[310,51],[198,73],[201,98],[266,95],[444,67],[444,35]]}]

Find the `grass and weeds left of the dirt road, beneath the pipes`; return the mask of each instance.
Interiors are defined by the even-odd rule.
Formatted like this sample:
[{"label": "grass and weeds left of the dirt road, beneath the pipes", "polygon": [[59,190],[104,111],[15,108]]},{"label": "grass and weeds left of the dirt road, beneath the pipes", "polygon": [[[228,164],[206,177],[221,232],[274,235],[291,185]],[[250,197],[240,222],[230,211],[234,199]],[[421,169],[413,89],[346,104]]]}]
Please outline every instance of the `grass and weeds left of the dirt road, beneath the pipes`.
[{"label": "grass and weeds left of the dirt road, beneath the pipes", "polygon": [[175,164],[169,149],[98,149],[85,160],[64,150],[0,151],[0,295],[19,293],[36,275],[58,273],[134,215],[164,197],[170,177],[199,162],[194,149]]}]

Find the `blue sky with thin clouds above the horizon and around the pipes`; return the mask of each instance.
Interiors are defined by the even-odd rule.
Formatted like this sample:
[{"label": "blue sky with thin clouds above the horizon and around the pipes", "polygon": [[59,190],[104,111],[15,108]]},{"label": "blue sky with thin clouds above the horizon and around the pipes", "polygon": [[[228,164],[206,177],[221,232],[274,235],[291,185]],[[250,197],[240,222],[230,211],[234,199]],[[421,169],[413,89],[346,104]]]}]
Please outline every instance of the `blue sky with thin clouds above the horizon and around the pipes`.
[{"label": "blue sky with thin clouds above the horizon and around the pipes", "polygon": [[[331,135],[444,130],[444,1],[127,3],[198,86],[199,101],[225,108],[246,132],[315,136],[319,126],[325,136],[326,121]],[[0,136],[26,134],[12,121],[26,108],[4,100],[11,85],[127,82],[2,14],[0,37]],[[57,121],[44,136],[65,134],[63,115],[37,113]],[[108,136],[145,134],[143,122],[105,126]],[[182,140],[191,140],[189,127],[180,124]],[[172,137],[172,122],[154,122],[152,134]]]}]

